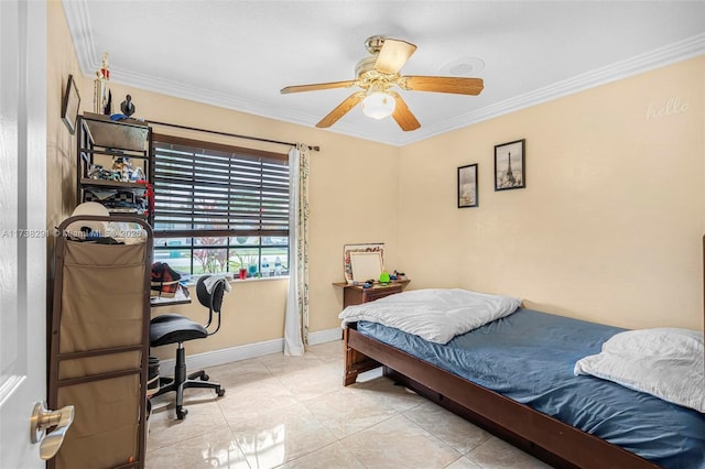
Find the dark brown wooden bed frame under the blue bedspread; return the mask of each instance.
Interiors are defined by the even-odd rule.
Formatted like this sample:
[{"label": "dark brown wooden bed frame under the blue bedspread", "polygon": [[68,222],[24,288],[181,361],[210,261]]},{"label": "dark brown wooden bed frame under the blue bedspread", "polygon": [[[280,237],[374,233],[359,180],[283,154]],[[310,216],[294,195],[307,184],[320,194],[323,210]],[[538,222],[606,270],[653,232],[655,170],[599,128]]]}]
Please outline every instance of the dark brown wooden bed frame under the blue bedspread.
[{"label": "dark brown wooden bed frame under the blue bedspread", "polygon": [[[705,236],[703,252],[705,270]],[[356,324],[345,328],[343,340],[346,386],[355,383],[359,373],[384,367],[384,375],[395,382],[551,466],[596,469],[659,467],[601,438],[364,336],[356,330]]]}]

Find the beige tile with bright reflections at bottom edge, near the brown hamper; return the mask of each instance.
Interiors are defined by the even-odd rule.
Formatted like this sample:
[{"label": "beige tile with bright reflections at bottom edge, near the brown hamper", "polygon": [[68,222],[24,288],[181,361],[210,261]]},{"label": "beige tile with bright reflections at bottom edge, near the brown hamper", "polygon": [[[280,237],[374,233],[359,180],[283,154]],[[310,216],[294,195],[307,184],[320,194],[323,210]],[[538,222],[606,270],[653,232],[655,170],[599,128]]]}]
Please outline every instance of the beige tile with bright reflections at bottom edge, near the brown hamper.
[{"label": "beige tile with bright reflections at bottom edge, near the brown hamper", "polygon": [[249,468],[230,430],[210,432],[176,445],[152,448],[148,445],[147,469]]}]

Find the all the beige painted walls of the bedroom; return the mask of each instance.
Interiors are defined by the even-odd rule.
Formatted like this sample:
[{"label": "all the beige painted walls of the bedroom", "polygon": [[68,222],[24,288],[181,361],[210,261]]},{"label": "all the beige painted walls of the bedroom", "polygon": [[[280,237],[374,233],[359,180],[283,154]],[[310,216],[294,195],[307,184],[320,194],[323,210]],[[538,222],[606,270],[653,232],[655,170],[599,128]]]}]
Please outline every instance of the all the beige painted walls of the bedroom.
[{"label": "all the beige painted walls of the bedroom", "polygon": [[[630,327],[702,328],[704,68],[703,58],[684,62],[402,149],[117,83],[110,89],[116,106],[132,96],[138,118],[321,145],[311,163],[311,331],[339,325],[341,292],[330,283],[343,280],[343,246],[379,241],[387,265],[405,271],[411,287],[507,293],[538,309]],[[80,75],[52,0],[48,226],[74,208],[75,138],[58,118],[68,74],[79,80],[82,111],[90,111],[93,77]],[[648,114],[671,99],[687,109]],[[528,187],[495,193],[492,148],[521,138]],[[476,162],[480,207],[457,209],[456,167]],[[387,199],[362,203],[379,194]],[[285,280],[236,282],[224,328],[188,351],[281,338],[286,287]],[[205,313],[196,304],[169,309]]]}]

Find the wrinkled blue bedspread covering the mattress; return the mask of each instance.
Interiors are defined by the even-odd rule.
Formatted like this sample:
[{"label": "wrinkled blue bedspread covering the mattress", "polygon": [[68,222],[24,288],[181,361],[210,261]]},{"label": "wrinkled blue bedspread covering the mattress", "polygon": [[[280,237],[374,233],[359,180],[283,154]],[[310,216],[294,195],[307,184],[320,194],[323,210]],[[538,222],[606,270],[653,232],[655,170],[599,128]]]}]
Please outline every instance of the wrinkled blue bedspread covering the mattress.
[{"label": "wrinkled blue bedspread covering the mattress", "polygon": [[623,329],[519,309],[445,346],[373,323],[358,330],[665,468],[705,468],[705,414],[574,375]]}]

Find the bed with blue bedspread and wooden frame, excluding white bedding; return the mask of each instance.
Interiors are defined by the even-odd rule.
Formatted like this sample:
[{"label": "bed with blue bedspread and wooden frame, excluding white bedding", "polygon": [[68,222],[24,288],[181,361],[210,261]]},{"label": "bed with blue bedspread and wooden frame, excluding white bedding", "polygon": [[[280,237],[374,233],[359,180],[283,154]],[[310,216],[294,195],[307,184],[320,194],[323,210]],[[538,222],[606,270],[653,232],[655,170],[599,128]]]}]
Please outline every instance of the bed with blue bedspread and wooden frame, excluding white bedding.
[{"label": "bed with blue bedspread and wooden frame, excluding white bedding", "polygon": [[705,468],[702,410],[575,374],[623,329],[518,308],[442,345],[375,320],[346,324],[345,385],[381,366],[554,467]]}]

